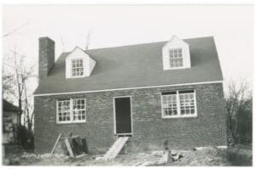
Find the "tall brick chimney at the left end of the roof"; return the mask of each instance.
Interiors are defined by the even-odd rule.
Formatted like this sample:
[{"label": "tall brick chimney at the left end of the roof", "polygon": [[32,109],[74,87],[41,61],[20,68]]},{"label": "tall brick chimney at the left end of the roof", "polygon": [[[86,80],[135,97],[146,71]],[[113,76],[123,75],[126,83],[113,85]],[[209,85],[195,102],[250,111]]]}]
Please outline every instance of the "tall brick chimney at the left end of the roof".
[{"label": "tall brick chimney at the left end of the roof", "polygon": [[45,79],[55,65],[55,42],[49,37],[39,37],[39,82]]}]

